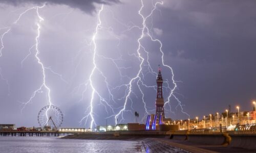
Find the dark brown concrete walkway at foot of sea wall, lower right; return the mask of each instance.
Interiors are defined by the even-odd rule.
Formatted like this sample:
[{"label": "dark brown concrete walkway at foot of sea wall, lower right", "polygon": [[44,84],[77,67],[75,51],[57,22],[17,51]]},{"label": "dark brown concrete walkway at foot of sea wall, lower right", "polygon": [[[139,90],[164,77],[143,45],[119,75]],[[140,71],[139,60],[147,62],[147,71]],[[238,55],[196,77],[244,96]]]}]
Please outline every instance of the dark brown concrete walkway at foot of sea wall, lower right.
[{"label": "dark brown concrete walkway at foot of sea wall, lower right", "polygon": [[174,147],[179,147],[181,149],[187,150],[189,152],[205,152],[205,153],[214,153],[214,152],[256,152],[256,150],[249,150],[244,148],[233,148],[224,145],[203,145],[197,144],[189,141],[182,140],[172,140],[164,138],[153,138],[154,140],[172,145]]}]

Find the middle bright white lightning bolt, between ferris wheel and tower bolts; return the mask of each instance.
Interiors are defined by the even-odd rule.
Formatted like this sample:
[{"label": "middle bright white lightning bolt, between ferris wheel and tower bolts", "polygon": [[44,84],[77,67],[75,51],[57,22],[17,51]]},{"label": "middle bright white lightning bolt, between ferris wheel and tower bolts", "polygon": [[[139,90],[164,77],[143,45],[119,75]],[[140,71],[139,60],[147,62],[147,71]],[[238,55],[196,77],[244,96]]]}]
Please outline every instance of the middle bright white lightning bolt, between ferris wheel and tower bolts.
[{"label": "middle bright white lightning bolt, between ferris wheel and tower bolts", "polygon": [[[96,122],[95,122],[95,119],[94,119],[94,116],[95,116],[95,112],[93,111],[94,110],[94,105],[95,105],[95,98],[99,98],[99,104],[104,106],[105,107],[105,111],[109,114],[109,111],[108,111],[108,108],[111,110],[111,113],[112,114],[115,114],[115,109],[112,105],[110,105],[110,101],[113,101],[115,104],[117,104],[116,102],[116,98],[114,97],[114,94],[112,94],[112,92],[114,90],[117,90],[117,89],[120,89],[122,88],[123,86],[125,85],[121,85],[121,86],[117,86],[117,87],[112,87],[109,82],[108,82],[108,79],[106,78],[106,76],[104,75],[104,73],[102,72],[102,70],[97,66],[97,62],[96,62],[96,59],[99,58],[99,59],[104,59],[104,60],[110,60],[114,65],[115,67],[117,68],[118,72],[119,72],[119,75],[121,78],[127,78],[127,79],[130,79],[127,75],[122,75],[122,72],[121,70],[122,69],[128,69],[129,67],[120,67],[118,64],[117,64],[117,61],[122,61],[121,58],[118,58],[118,59],[112,59],[112,58],[109,58],[109,57],[105,57],[105,56],[102,56],[100,54],[97,53],[97,43],[96,43],[96,37],[99,33],[99,30],[107,30],[112,36],[114,36],[117,40],[119,40],[119,38],[113,33],[113,28],[112,27],[103,27],[102,23],[101,23],[101,19],[100,19],[100,16],[101,16],[101,12],[103,11],[103,8],[104,8],[104,5],[101,6],[100,10],[98,11],[98,14],[97,14],[97,25],[96,25],[96,28],[95,28],[95,31],[93,33],[93,36],[92,36],[92,39],[91,39],[91,43],[89,44],[90,46],[92,46],[92,54],[93,54],[93,68],[90,72],[90,77],[88,80],[84,81],[83,84],[79,85],[79,87],[77,87],[77,89],[79,89],[82,85],[86,87],[85,90],[83,90],[83,93],[82,93],[82,98],[81,100],[83,99],[84,97],[84,94],[86,93],[86,90],[87,90],[87,87],[89,86],[91,89],[92,89],[92,93],[91,93],[91,99],[90,99],[90,105],[89,107],[87,107],[86,109],[86,116],[84,116],[81,120],[80,120],[80,123],[85,120],[85,124],[87,124],[87,121],[88,119],[90,118],[91,119],[91,122],[90,122],[90,128],[92,129],[93,125],[96,126]],[[120,41],[119,41],[120,42]],[[119,43],[117,44],[117,46],[119,45]],[[93,75],[95,74],[95,72],[98,72],[101,77],[103,78],[103,81],[105,83],[105,86],[106,86],[106,89],[108,91],[108,94],[109,94],[109,97],[108,99],[106,99],[103,95],[101,95],[97,90],[96,90],[96,87],[95,87],[95,82],[93,81]],[[121,97],[120,99],[122,99],[123,97]],[[118,100],[120,100],[118,99]],[[118,109],[118,108],[117,108]],[[113,115],[109,116],[109,117],[106,117],[107,118],[110,118],[110,117],[113,117]]]}]

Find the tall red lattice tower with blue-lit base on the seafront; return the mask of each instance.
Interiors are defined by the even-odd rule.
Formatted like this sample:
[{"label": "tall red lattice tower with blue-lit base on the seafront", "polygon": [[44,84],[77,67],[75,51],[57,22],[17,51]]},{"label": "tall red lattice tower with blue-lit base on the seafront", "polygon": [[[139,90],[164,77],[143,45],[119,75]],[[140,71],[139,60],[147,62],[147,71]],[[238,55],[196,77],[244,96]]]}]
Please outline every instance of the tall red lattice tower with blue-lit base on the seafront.
[{"label": "tall red lattice tower with blue-lit base on the seafront", "polygon": [[163,99],[163,78],[161,69],[157,75],[157,98],[156,98],[156,114],[147,115],[146,130],[159,130],[159,125],[164,124],[166,120],[164,116],[164,99]]}]

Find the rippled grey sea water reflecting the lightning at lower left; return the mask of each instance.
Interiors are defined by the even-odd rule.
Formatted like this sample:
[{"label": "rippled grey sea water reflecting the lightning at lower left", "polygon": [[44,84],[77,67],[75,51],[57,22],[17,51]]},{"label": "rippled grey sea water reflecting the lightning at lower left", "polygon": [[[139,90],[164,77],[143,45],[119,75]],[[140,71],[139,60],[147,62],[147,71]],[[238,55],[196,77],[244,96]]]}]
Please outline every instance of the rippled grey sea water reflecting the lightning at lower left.
[{"label": "rippled grey sea water reflecting the lightning at lower left", "polygon": [[138,141],[0,137],[0,152],[141,152]]}]

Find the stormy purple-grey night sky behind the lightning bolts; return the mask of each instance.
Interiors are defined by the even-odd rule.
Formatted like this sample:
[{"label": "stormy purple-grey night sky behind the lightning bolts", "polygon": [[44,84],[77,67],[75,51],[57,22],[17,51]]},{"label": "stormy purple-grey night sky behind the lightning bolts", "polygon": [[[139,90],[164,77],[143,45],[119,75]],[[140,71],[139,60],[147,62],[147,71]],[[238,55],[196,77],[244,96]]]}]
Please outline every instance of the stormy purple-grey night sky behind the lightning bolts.
[{"label": "stormy purple-grey night sky behind the lightning bolts", "polygon": [[[43,79],[34,47],[22,64],[35,44],[36,23],[39,21],[36,10],[26,12],[13,24],[20,13],[44,2],[0,1],[0,36],[4,43],[0,57],[0,123],[38,126],[39,110],[49,105],[47,90],[42,89],[20,111]],[[157,1],[143,2],[141,13],[147,16]],[[164,63],[173,68],[178,86],[174,95],[181,101],[183,111],[190,118],[202,118],[209,113],[224,112],[228,105],[232,111],[236,111],[237,105],[241,110],[252,110],[252,101],[256,99],[256,2],[170,0],[163,3],[157,5],[146,25],[153,38],[162,42]],[[90,113],[92,88],[89,78],[94,67],[94,46],[90,42],[101,4],[102,1],[48,1],[38,11],[44,18],[40,22],[38,57],[46,69],[46,84],[51,89],[52,103],[64,114],[63,126],[90,126],[90,116],[87,122],[79,121]],[[113,115],[122,109],[129,82],[140,68],[137,40],[141,35],[139,28],[143,26],[138,14],[141,2],[113,0],[103,1],[103,5],[102,24],[95,38],[98,69],[92,75],[92,83],[109,106],[96,94],[93,116],[96,124],[105,124],[105,118],[112,116],[108,122],[114,124]],[[135,25],[137,27],[128,30]],[[5,34],[8,29],[10,31]],[[157,71],[160,64],[163,79],[174,88],[172,73],[161,64],[160,44],[146,36],[140,42],[148,52],[148,62],[153,70]],[[147,57],[142,48],[139,52],[143,58]],[[142,65],[141,80],[147,86],[155,86],[155,74],[150,73],[146,61]],[[139,120],[143,119],[145,109],[137,81],[132,82],[124,120],[121,121],[119,116],[118,121],[135,121],[135,111],[140,114]],[[146,88],[141,82],[138,84],[144,93],[148,112],[154,113],[156,91]],[[169,92],[164,88],[165,101]],[[166,105],[166,117],[187,119],[179,101],[173,96],[169,100],[171,107]]]}]

